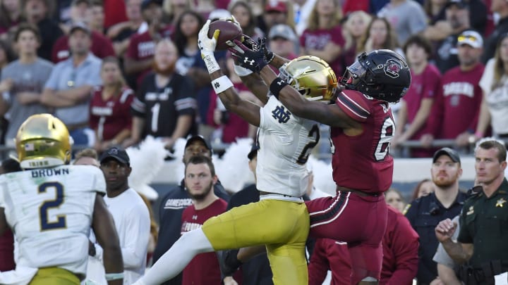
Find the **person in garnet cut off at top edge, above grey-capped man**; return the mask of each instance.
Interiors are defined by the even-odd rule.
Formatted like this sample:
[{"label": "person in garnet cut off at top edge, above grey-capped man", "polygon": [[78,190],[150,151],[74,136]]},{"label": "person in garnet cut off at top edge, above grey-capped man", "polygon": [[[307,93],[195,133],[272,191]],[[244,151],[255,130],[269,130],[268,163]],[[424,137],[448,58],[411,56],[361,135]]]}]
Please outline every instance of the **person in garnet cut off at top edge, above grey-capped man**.
[{"label": "person in garnet cut off at top edge, above grey-capped man", "polygon": [[265,3],[265,13],[262,17],[264,25],[260,25],[262,32],[267,34],[277,24],[294,25],[291,1],[270,0]]}]

